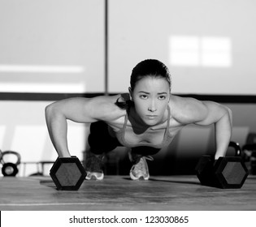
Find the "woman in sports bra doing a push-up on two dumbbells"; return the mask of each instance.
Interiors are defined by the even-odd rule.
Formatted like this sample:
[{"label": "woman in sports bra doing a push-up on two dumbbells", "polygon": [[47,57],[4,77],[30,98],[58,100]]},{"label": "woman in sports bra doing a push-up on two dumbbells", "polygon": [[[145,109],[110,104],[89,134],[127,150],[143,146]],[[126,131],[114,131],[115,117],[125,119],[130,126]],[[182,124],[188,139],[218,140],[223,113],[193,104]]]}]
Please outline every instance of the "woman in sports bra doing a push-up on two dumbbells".
[{"label": "woman in sports bra doing a push-up on two dumbbells", "polygon": [[60,157],[69,157],[67,119],[91,123],[90,155],[86,158],[86,179],[101,180],[102,157],[116,146],[131,148],[130,177],[149,179],[146,157],[171,143],[178,131],[191,123],[215,124],[215,159],[225,156],[232,133],[232,113],[212,101],[197,101],[171,95],[167,66],[154,59],[132,70],[129,93],[93,98],[70,98],[46,107],[46,123]]}]

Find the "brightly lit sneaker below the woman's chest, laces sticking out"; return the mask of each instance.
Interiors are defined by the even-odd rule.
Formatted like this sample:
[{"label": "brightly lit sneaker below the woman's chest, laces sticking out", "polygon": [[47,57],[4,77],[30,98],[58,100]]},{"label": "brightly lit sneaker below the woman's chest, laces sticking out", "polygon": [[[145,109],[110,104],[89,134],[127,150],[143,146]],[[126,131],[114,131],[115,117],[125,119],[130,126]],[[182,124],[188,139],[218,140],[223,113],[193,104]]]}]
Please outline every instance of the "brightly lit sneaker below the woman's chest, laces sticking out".
[{"label": "brightly lit sneaker below the woman's chest, laces sticking out", "polygon": [[130,170],[130,178],[132,180],[148,180],[150,178],[150,172],[146,159],[152,161],[151,156],[141,156],[137,154],[132,154],[129,152],[130,161],[132,161],[132,169]]}]

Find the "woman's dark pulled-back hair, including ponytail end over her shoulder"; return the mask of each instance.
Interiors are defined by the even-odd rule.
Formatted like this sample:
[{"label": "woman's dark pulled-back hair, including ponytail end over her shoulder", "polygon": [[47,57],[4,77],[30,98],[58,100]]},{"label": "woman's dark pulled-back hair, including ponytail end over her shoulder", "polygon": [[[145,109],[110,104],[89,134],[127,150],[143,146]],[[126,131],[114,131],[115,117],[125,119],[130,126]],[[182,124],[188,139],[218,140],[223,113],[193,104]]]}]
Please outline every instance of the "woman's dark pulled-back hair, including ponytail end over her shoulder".
[{"label": "woman's dark pulled-back hair, including ponytail end over her shoulder", "polygon": [[[166,79],[171,89],[171,75],[167,66],[158,60],[146,59],[139,62],[137,66],[132,69],[132,75],[130,78],[130,86],[132,91],[139,80],[148,76]],[[133,102],[130,100],[125,100],[122,102],[117,100],[115,105],[119,106],[120,109],[128,109],[131,105],[133,105]]]}]

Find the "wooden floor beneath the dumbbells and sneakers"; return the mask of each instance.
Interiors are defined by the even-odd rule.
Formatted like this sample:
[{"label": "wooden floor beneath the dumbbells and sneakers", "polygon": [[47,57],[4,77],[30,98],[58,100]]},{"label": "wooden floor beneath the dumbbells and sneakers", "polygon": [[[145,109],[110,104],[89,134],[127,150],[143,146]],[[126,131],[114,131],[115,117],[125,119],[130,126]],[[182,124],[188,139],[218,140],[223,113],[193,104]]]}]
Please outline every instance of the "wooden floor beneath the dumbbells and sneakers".
[{"label": "wooden floor beneath the dumbbells and sneakers", "polygon": [[48,177],[0,178],[0,210],[256,210],[256,176],[241,189],[201,186],[195,176],[131,181],[106,176],[79,191],[57,191]]}]

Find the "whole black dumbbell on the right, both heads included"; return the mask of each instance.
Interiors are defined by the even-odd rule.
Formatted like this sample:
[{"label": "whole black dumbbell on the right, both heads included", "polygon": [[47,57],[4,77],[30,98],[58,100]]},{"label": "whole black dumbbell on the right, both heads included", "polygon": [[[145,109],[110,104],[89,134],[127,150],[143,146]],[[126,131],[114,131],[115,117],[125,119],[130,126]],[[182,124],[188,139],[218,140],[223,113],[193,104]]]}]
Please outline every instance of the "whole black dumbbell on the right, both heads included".
[{"label": "whole black dumbbell on the right, both heads included", "polygon": [[229,147],[235,148],[235,156],[219,157],[202,156],[196,166],[197,178],[204,186],[223,189],[241,188],[248,176],[248,169],[241,159],[241,148],[231,141]]}]

